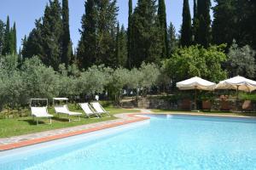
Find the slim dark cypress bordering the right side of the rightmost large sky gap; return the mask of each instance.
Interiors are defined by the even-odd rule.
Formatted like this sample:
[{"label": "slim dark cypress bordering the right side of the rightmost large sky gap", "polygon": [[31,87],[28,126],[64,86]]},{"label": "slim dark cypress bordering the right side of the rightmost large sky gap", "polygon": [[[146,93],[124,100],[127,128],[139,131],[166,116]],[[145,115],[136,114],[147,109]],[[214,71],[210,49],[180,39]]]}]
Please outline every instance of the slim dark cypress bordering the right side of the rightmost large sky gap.
[{"label": "slim dark cypress bordering the right side of the rightmost large sky gap", "polygon": [[189,0],[183,0],[183,23],[181,27],[181,46],[189,46],[192,43],[191,15]]}]

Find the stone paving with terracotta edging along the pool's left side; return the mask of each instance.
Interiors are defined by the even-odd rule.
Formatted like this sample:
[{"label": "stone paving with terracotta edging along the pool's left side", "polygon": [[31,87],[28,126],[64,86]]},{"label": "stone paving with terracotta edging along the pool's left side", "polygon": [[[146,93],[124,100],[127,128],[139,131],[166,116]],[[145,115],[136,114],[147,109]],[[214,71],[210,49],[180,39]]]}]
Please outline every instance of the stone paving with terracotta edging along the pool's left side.
[{"label": "stone paving with terracotta edging along the pool's left side", "polygon": [[[143,111],[142,113],[147,113],[148,111]],[[30,144],[38,144],[42,142],[47,142],[54,139],[62,139],[67,138],[73,135],[78,135],[82,133],[90,133],[97,130],[102,130],[109,127],[117,127],[120,125],[125,125],[131,122],[139,122],[143,120],[149,119],[146,116],[137,116],[142,113],[123,113],[114,115],[118,117],[118,119],[105,121],[105,122],[96,122],[91,124],[86,124],[77,127],[67,127],[61,129],[55,129],[50,131],[45,131],[41,133],[31,133],[21,136],[15,136],[10,138],[0,139],[0,151],[2,150],[10,150],[19,148],[22,146],[30,145]]]}]

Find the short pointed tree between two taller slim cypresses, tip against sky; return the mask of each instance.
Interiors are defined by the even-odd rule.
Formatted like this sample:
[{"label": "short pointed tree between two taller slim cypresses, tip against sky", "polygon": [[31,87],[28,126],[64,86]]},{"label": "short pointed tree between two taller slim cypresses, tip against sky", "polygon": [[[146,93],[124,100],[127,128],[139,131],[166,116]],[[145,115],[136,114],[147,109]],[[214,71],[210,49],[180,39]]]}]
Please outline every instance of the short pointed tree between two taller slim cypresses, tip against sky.
[{"label": "short pointed tree between two taller slim cypresses, tip against sky", "polygon": [[170,22],[170,26],[168,27],[168,42],[169,42],[169,54],[173,54],[174,51],[178,48],[178,40],[176,36],[175,27]]}]

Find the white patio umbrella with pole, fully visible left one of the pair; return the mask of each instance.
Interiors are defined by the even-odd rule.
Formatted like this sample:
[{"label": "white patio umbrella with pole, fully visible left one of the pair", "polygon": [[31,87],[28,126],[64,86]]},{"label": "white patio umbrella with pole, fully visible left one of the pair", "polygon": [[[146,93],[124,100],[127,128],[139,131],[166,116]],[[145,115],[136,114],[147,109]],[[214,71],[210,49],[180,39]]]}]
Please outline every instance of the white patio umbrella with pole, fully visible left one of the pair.
[{"label": "white patio umbrella with pole, fully visible left one of the pair", "polygon": [[176,83],[177,88],[180,90],[195,90],[195,110],[196,110],[196,90],[213,91],[216,84],[202,79],[201,77],[192,77],[188,80]]}]

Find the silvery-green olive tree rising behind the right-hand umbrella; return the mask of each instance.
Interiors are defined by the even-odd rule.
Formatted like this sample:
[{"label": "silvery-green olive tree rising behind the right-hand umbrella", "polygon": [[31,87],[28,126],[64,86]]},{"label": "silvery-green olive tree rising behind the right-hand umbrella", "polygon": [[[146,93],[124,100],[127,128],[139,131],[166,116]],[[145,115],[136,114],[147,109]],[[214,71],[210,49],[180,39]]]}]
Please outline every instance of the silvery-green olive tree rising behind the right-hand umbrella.
[{"label": "silvery-green olive tree rising behind the right-hand umbrella", "polygon": [[255,54],[255,51],[248,45],[239,48],[234,41],[228,54],[230,77],[235,77],[237,75],[250,78],[255,77]]}]

